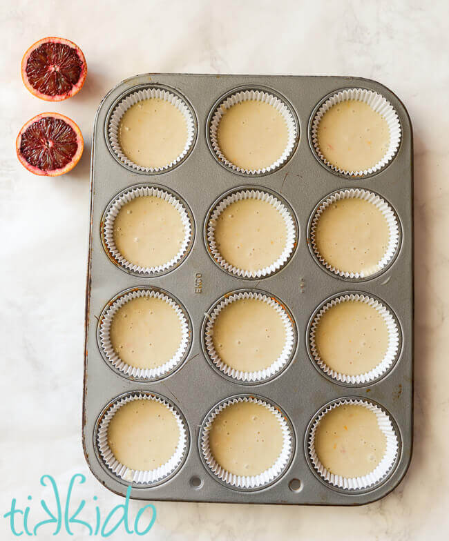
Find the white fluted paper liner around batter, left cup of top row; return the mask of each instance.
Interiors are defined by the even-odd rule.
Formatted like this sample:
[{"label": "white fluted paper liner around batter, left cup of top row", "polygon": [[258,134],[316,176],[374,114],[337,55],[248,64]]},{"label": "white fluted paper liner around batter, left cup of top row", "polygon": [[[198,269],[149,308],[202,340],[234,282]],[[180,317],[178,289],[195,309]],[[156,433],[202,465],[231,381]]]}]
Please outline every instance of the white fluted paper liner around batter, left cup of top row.
[{"label": "white fluted paper liner around batter, left cup of top row", "polygon": [[[180,153],[180,155],[177,156],[173,161],[163,167],[144,167],[135,164],[124,154],[119,142],[120,120],[122,119],[125,112],[131,106],[137,104],[139,101],[153,98],[164,99],[165,101],[168,101],[170,104],[175,106],[175,108],[182,112],[182,115],[186,120],[187,125],[187,139],[182,153]],[[130,94],[126,98],[122,99],[122,101],[120,101],[120,103],[115,107],[115,110],[111,115],[111,119],[109,120],[108,137],[113,152],[115,153],[115,155],[117,155],[117,157],[120,159],[120,161],[122,161],[123,164],[132,167],[137,171],[144,171],[145,173],[157,173],[173,168],[173,166],[178,164],[187,155],[195,139],[195,121],[193,119],[190,108],[179,96],[172,94],[168,90],[164,90],[162,88],[145,88],[143,90],[133,92],[133,94]]]}]

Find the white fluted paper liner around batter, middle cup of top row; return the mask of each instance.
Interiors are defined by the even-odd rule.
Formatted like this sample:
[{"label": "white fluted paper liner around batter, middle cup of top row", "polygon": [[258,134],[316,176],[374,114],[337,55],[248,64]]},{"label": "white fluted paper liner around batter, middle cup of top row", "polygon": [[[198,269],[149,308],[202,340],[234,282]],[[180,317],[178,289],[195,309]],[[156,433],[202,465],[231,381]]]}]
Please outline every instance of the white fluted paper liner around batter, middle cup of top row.
[{"label": "white fluted paper liner around batter, middle cup of top row", "polygon": [[[285,123],[287,124],[287,145],[285,146],[283,153],[278,157],[278,159],[276,159],[276,161],[262,169],[244,169],[236,166],[235,164],[231,163],[231,161],[229,161],[227,157],[225,157],[225,155],[220,149],[220,145],[218,144],[217,132],[220,120],[222,119],[223,115],[225,115],[227,109],[231,108],[236,104],[240,104],[240,102],[242,101],[263,101],[266,104],[273,106],[278,112],[280,112],[280,114],[283,116],[283,119],[285,120]],[[292,155],[296,145],[297,137],[298,131],[296,128],[296,122],[290,108],[278,97],[269,94],[268,92],[262,92],[261,90],[243,90],[242,92],[236,92],[236,94],[227,97],[216,108],[215,112],[213,113],[211,123],[209,125],[209,139],[218,159],[220,159],[223,164],[225,164],[232,170],[238,171],[239,173],[245,173],[247,175],[270,173],[278,169]]]}]

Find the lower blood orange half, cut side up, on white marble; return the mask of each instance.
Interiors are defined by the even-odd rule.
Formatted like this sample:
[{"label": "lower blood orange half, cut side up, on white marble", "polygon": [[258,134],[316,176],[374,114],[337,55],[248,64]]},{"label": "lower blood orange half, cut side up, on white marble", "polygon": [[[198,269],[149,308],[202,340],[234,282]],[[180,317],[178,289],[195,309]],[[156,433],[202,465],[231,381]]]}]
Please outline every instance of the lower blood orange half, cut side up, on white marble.
[{"label": "lower blood orange half, cut side up, on white marble", "polygon": [[84,140],[72,119],[57,112],[43,112],[23,124],[16,149],[21,164],[31,173],[57,177],[76,166]]}]

